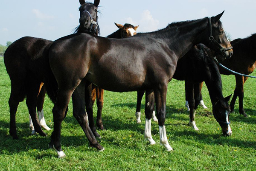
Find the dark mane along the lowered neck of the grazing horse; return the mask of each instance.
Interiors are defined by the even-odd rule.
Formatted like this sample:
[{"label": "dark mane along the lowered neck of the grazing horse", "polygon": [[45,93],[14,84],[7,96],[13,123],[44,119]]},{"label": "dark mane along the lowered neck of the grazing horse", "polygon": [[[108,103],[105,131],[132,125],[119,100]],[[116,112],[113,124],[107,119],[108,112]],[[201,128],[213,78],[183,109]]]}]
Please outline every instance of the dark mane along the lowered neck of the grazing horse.
[{"label": "dark mane along the lowered neck of the grazing horse", "polygon": [[215,84],[214,87],[217,87],[215,89],[217,91],[214,92],[215,99],[212,99],[212,97],[210,97],[213,102],[213,105],[215,105],[218,102],[219,104],[221,104],[223,108],[229,109],[230,108],[229,104],[227,103],[227,101],[225,100],[222,94],[221,74],[219,72],[218,65],[213,60],[212,50],[210,50],[207,46],[203,44],[198,44],[196,45],[196,47],[197,48],[193,48],[193,50],[195,50],[196,52],[195,54],[197,54],[195,56],[197,56],[198,58],[204,61],[204,66],[207,67],[207,70],[209,70],[209,72],[211,73],[211,78],[210,78],[211,82],[212,84]]}]

